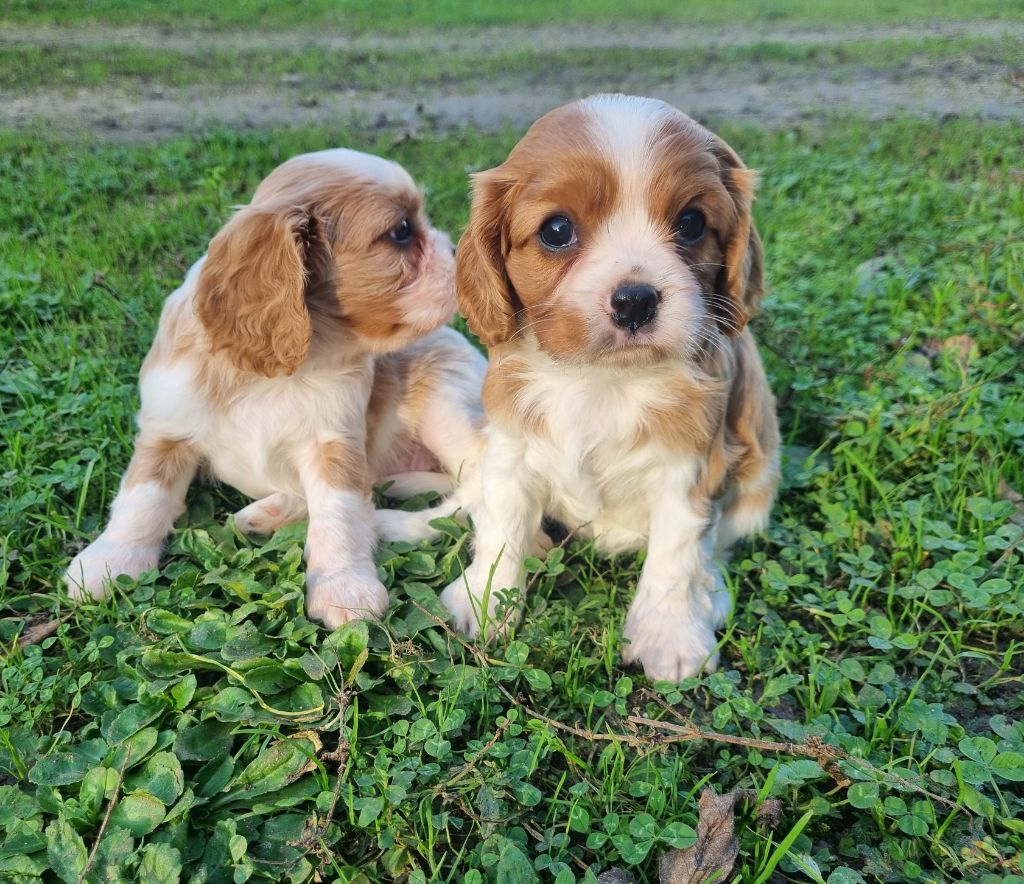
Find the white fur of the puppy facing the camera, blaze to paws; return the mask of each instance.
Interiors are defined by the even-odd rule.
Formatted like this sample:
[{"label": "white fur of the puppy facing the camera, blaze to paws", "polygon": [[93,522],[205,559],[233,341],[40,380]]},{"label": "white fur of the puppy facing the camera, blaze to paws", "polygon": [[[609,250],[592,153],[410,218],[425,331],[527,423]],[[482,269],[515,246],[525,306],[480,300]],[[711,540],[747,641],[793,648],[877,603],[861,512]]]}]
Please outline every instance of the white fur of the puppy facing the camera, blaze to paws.
[{"label": "white fur of the puppy facing the camera, blaze to paws", "polygon": [[[773,487],[777,469],[771,465],[730,498],[738,503],[719,529],[718,511],[699,496],[707,491],[697,490],[708,453],[680,454],[645,431],[649,415],[680,405],[667,398],[680,388],[667,383],[670,378],[692,385],[706,380],[694,356],[718,334],[697,277],[680,260],[671,230],[650,205],[652,184],[678,184],[652,182],[649,172],[653,139],[678,112],[623,95],[599,95],[578,107],[586,136],[616,177],[614,206],[583,231],[577,260],[546,294],[546,303],[573,319],[579,348],[550,355],[524,326],[493,353],[515,361],[515,404],[511,417],[490,415],[473,511],[475,555],[441,598],[470,634],[482,624],[490,632],[507,628],[494,621],[497,598],[504,589],[524,590],[522,559],[542,513],[593,537],[607,553],[647,547],[623,655],[652,679],[679,680],[717,665],[715,629],[732,602],[712,555],[763,528],[764,500],[746,505],[743,493],[758,491],[762,480],[765,489]],[[557,162],[557,151],[552,157]],[[534,210],[543,205],[545,217],[562,208],[543,194],[535,199]],[[660,296],[655,321],[633,335],[614,326],[609,309],[612,292],[626,283],[650,285]],[[629,348],[638,343],[653,345],[662,356],[631,361]],[[731,365],[724,341],[711,337],[711,343]],[[604,360],[608,353],[622,359]]]}]

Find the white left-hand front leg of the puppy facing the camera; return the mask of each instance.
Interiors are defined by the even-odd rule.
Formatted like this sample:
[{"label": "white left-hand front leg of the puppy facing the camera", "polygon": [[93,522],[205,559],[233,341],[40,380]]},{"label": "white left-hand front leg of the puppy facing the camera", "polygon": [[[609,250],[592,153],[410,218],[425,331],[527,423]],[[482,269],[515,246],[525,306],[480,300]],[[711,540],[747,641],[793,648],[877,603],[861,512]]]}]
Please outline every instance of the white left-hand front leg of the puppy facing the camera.
[{"label": "white left-hand front leg of the puppy facing the camera", "polygon": [[502,590],[524,588],[523,557],[541,529],[542,482],[523,463],[525,441],[493,425],[480,465],[482,497],[474,512],[475,556],[441,593],[456,625],[469,635],[504,632],[495,618]]}]

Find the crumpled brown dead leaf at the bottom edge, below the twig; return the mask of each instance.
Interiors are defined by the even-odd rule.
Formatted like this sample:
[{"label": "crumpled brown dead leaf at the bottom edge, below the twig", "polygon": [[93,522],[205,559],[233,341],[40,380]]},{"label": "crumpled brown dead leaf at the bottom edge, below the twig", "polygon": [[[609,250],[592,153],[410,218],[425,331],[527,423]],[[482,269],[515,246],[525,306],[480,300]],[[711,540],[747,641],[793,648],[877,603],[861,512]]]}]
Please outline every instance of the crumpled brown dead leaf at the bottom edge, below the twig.
[{"label": "crumpled brown dead leaf at the bottom edge, below the twig", "polygon": [[[725,795],[716,795],[710,789],[701,792],[696,844],[685,850],[670,850],[662,857],[660,884],[720,884],[728,880],[739,852],[733,810],[737,801],[753,803],[756,800],[757,793],[749,789],[737,789]],[[757,811],[758,822],[772,828],[778,825],[781,815],[782,803],[777,799],[765,801]]]}]

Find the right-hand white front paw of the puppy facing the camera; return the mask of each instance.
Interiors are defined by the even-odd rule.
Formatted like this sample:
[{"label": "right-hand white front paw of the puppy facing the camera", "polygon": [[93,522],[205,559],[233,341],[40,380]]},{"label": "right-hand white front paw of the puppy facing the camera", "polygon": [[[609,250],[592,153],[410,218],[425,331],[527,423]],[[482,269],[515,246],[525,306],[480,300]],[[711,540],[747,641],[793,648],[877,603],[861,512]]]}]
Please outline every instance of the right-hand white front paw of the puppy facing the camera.
[{"label": "right-hand white front paw of the puppy facing the camera", "polygon": [[[710,595],[693,599],[688,592],[651,595],[655,602],[630,608],[623,637],[623,660],[638,663],[651,681],[681,681],[718,667],[715,624],[718,615]],[[726,593],[726,597],[728,594]],[[721,608],[721,600],[717,600]]]}]

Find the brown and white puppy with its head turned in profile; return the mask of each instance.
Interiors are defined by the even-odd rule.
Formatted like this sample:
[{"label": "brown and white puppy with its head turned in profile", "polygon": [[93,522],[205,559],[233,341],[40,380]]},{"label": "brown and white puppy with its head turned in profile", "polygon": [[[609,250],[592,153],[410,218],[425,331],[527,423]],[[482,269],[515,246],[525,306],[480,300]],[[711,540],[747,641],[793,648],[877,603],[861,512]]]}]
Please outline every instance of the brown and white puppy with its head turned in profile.
[{"label": "brown and white puppy with its head turned in profile", "polygon": [[[449,328],[452,243],[397,164],[354,151],[275,169],[166,301],[139,379],[135,452],[73,597],[156,567],[199,468],[255,498],[268,534],[308,514],[306,611],[382,615],[370,492],[475,470],[486,362]],[[443,485],[443,482],[441,482]]]}]

